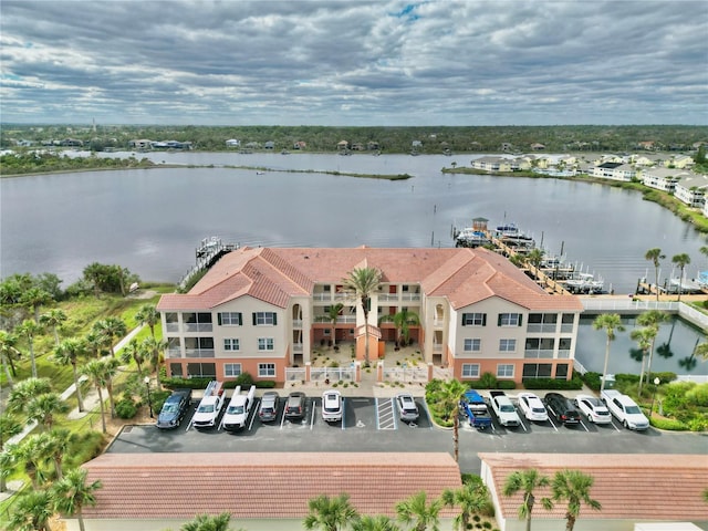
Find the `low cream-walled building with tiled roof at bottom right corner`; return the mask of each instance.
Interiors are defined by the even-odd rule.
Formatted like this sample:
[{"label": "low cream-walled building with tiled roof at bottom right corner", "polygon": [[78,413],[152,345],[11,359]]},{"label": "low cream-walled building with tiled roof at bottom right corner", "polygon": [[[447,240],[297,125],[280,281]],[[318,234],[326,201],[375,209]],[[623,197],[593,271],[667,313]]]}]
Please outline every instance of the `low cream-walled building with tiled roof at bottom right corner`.
[{"label": "low cream-walled building with tiled roof at bottom right corner", "polygon": [[[479,454],[482,481],[489,488],[497,522],[501,531],[523,531],[525,520],[519,520],[523,491],[501,494],[510,473],[533,468],[553,478],[559,470],[580,470],[592,476],[590,497],[602,504],[595,511],[581,506],[575,531],[662,531],[706,529],[708,510],[701,492],[708,478],[705,455],[647,454]],[[533,528],[544,531],[565,529],[568,502],[558,502],[551,511],[539,502],[550,497],[550,488],[534,490]],[[691,522],[699,528],[676,527]],[[643,528],[644,523],[662,524]]]}]

